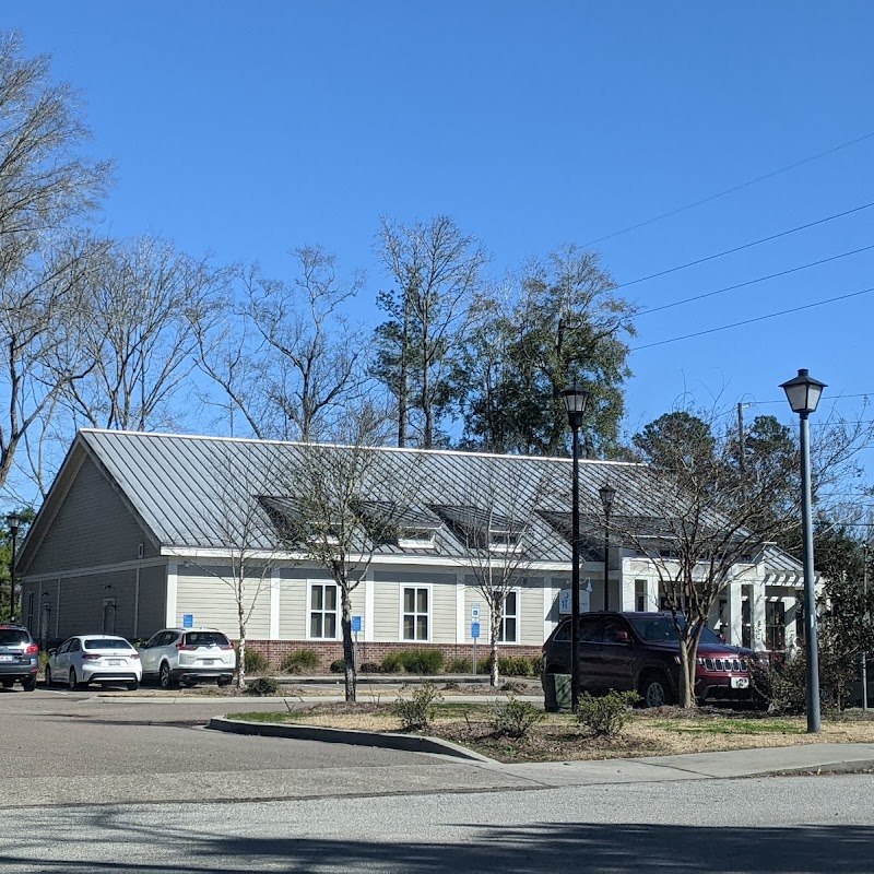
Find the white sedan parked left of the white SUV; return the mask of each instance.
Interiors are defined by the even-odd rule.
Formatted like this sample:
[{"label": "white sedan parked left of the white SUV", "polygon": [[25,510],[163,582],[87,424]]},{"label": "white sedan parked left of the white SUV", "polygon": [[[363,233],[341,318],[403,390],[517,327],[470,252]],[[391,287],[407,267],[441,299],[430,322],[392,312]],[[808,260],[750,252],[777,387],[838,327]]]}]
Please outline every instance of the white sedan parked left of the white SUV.
[{"label": "white sedan parked left of the white SUV", "polygon": [[76,635],[49,650],[46,686],[63,683],[71,689],[91,683],[123,684],[131,692],[142,678],[140,653],[123,637]]}]

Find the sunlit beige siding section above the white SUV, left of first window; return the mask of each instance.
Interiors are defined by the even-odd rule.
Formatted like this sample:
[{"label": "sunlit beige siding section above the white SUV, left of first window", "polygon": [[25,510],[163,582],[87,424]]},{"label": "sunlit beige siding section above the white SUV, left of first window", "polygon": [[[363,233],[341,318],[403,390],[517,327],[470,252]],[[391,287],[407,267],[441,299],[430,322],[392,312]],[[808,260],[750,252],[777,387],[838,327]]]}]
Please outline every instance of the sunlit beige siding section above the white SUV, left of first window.
[{"label": "sunlit beige siding section above the white SUV, left of first window", "polygon": [[[244,587],[244,609],[247,612],[251,609],[246,636],[264,639],[270,636],[270,580],[259,582],[257,578],[249,579]],[[235,639],[239,637],[237,603],[229,575],[220,578],[179,568],[176,589],[179,625],[186,613],[193,615],[194,625],[217,628]]]}]

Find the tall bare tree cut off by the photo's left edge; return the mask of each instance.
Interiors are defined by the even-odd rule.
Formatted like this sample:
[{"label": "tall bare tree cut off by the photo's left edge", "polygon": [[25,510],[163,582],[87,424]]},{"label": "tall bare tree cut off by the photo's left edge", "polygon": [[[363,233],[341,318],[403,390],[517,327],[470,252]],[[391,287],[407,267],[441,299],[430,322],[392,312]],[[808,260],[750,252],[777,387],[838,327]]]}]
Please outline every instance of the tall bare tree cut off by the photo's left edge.
[{"label": "tall bare tree cut off by the photo's left edge", "polygon": [[93,250],[79,225],[110,170],[81,155],[88,138],[73,92],[50,81],[49,58],[24,58],[19,34],[0,34],[0,486],[60,387],[87,370],[73,326]]}]

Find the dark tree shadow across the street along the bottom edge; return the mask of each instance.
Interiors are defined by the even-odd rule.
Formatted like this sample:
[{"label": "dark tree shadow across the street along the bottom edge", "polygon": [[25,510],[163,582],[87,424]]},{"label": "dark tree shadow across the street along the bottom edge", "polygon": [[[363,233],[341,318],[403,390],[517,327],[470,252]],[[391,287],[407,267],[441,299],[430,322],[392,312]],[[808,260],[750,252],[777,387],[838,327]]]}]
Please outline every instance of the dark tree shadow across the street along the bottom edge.
[{"label": "dark tree shadow across the street along the bottom edge", "polygon": [[[169,814],[169,811],[168,811]],[[168,815],[168,820],[172,816]],[[243,874],[276,872],[701,872],[733,874],[810,874],[810,872],[871,872],[874,835],[861,826],[808,826],[792,828],[696,828],[660,825],[539,824],[525,828],[469,828],[470,841],[423,843],[342,839],[205,838],[185,829],[140,834],[113,816],[95,817],[95,827],[107,829],[107,845],[126,841],[131,853],[114,862],[101,852],[103,840],[85,840],[90,848],[52,842],[52,861],[38,863],[0,854],[0,869],[24,865],[33,874],[57,872],[126,872],[126,874]],[[122,834],[127,831],[127,835]],[[142,841],[142,843],[140,842]],[[144,847],[160,843],[154,864],[134,860]],[[67,843],[76,843],[68,840]],[[157,845],[156,845],[157,846]],[[90,849],[99,861],[83,859]],[[107,847],[108,850],[108,847]],[[169,854],[176,861],[172,861]],[[67,858],[62,858],[67,855]],[[25,869],[22,869],[25,870]]]}]

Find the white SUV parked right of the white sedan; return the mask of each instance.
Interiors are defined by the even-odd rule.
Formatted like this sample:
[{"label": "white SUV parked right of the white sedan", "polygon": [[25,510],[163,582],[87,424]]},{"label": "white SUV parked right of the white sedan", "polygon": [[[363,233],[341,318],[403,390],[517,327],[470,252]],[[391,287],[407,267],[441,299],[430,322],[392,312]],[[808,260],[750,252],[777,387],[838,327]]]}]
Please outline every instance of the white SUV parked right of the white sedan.
[{"label": "white SUV parked right of the white sedan", "polygon": [[201,680],[226,686],[237,666],[234,646],[215,628],[163,628],[140,647],[140,659],[143,676],[165,689]]}]

